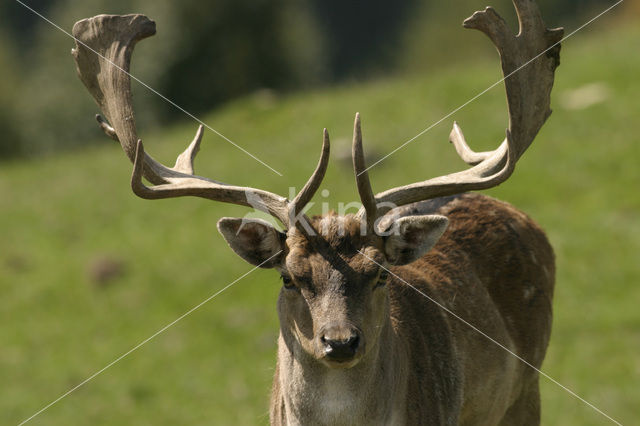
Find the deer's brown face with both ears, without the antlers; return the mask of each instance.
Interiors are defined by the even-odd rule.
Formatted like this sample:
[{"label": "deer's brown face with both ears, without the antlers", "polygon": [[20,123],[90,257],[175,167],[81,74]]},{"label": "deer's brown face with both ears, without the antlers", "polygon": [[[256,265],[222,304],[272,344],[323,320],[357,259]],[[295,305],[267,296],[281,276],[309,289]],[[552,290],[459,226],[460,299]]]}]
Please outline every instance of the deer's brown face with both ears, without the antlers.
[{"label": "deer's brown face with both ears, without the antlers", "polygon": [[350,368],[383,344],[386,268],[420,257],[446,225],[442,216],[408,216],[390,223],[384,236],[363,235],[360,219],[327,215],[312,220],[315,235],[235,218],[221,219],[218,229],[243,259],[280,273],[280,330],[292,356]]}]

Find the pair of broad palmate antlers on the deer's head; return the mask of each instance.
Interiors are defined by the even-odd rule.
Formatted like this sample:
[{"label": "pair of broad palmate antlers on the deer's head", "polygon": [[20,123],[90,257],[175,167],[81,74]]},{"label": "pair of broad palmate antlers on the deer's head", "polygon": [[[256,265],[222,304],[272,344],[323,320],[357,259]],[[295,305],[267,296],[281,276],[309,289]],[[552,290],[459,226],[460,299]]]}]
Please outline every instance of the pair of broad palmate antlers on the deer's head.
[{"label": "pair of broad palmate antlers on the deer's head", "polygon": [[[511,176],[516,162],[551,114],[550,94],[554,71],[559,65],[559,41],[563,30],[546,29],[535,2],[513,0],[513,3],[520,25],[518,35],[513,35],[504,20],[490,7],[464,21],[465,28],[484,32],[498,49],[509,112],[506,139],[490,152],[472,151],[462,130],[454,124],[450,141],[459,156],[474,167],[374,195],[364,160],[360,117],[356,115],[352,155],[363,204],[358,214],[366,216],[370,229],[374,229],[375,221],[387,213],[390,206],[487,189],[504,182]],[[143,15],[99,15],[79,21],[73,27],[76,38],[73,55],[78,75],[111,123],[98,117],[100,127],[108,136],[120,142],[134,163],[131,179],[133,191],[147,199],[191,195],[254,207],[276,217],[287,228],[297,226],[305,233],[313,232],[309,220],[301,212],[319,188],[327,168],[329,135],[326,129],[318,166],[292,201],[260,189],[228,185],[196,176],[193,160],[200,147],[202,126],[172,168],[160,164],[144,152],[142,142],[137,137],[128,72],[135,44],[153,34],[155,23]],[[142,177],[154,186],[144,185]]]}]

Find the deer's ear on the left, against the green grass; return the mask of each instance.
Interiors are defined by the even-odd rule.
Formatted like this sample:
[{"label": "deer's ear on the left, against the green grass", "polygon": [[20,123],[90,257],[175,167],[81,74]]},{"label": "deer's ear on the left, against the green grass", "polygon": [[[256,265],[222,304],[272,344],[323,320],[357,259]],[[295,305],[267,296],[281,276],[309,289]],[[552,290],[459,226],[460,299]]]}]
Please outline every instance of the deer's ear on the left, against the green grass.
[{"label": "deer's ear on the left, against the green grass", "polygon": [[283,259],[287,237],[264,220],[223,217],[218,231],[231,249],[252,265],[273,268]]}]

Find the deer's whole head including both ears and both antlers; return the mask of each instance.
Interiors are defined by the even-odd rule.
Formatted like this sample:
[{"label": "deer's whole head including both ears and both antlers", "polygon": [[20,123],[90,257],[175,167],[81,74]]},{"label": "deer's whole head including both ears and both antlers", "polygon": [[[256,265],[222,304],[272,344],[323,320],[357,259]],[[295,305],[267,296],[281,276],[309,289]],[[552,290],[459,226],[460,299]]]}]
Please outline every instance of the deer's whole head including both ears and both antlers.
[{"label": "deer's whole head including both ears and both antlers", "polygon": [[[135,44],[155,33],[154,22],[145,16],[100,15],[79,21],[73,28],[77,40],[73,55],[80,79],[107,119],[98,116],[100,127],[120,142],[134,163],[131,186],[136,195],[146,199],[198,196],[252,206],[282,222],[284,232],[261,220],[223,218],[218,229],[244,260],[274,268],[281,275],[278,312],[290,353],[345,368],[356,365],[380,345],[378,337],[389,318],[386,268],[421,257],[447,227],[447,219],[438,215],[394,217],[391,206],[504,182],[551,112],[550,92],[559,63],[557,42],[562,30],[547,30],[534,2],[515,0],[514,4],[520,24],[518,35],[514,36],[491,8],[476,12],[464,22],[466,28],[489,36],[500,54],[509,110],[502,144],[495,151],[473,152],[454,124],[450,140],[472,168],[374,195],[364,161],[360,117],[356,115],[352,156],[363,208],[347,216],[308,218],[302,213],[327,168],[330,144],[326,129],[318,166],[291,201],[260,189],[195,175],[193,160],[202,126],[174,167],[147,155],[136,133],[128,75]],[[143,177],[154,185],[145,185]]]}]

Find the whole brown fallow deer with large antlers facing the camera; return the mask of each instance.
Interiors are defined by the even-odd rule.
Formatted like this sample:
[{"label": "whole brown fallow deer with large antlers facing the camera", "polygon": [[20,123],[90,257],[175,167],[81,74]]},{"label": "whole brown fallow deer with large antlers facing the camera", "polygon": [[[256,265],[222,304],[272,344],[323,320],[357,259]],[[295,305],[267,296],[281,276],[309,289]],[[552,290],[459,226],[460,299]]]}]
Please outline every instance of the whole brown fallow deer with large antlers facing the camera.
[{"label": "whole brown fallow deer with large antlers facing the camera", "polygon": [[553,251],[527,215],[468,192],[504,182],[551,113],[562,29],[546,29],[534,1],[514,5],[517,36],[492,8],[464,21],[489,36],[501,57],[504,142],[474,152],[454,124],[451,142],[473,167],[374,195],[356,115],[352,157],[363,207],[313,218],[304,207],[327,168],[326,129],[318,166],[293,200],[194,175],[202,127],[176,165],[165,167],[137,137],[128,75],[133,48],[155,33],[154,22],[100,15],[75,24],[79,76],[106,116],[98,117],[101,128],[134,163],[135,194],[252,206],[286,228],[218,222],[238,255],[282,277],[272,424],[540,422],[537,369],[551,331]]}]

